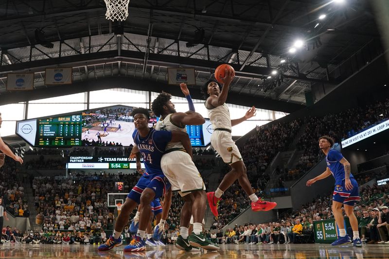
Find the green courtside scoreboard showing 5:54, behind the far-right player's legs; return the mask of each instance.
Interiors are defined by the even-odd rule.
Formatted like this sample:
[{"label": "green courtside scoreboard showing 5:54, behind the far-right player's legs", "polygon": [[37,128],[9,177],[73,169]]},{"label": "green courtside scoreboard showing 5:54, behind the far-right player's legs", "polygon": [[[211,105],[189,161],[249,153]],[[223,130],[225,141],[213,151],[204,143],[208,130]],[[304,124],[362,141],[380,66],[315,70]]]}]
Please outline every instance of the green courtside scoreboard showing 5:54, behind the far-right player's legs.
[{"label": "green courtside scoreboard showing 5:54, behind the far-right player's legs", "polygon": [[[337,239],[338,227],[335,219],[314,221],[315,243],[332,243]],[[350,226],[349,218],[344,218],[347,229]]]}]

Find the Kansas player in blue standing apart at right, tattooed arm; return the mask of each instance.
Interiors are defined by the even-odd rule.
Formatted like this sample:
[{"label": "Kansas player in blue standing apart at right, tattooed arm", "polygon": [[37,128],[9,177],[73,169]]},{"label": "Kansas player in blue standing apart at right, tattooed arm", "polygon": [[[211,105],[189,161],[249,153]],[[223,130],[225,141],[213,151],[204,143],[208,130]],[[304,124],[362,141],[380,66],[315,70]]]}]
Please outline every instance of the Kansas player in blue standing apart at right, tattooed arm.
[{"label": "Kansas player in blue standing apart at right, tattooed arm", "polygon": [[350,224],[353,229],[353,242],[354,246],[362,246],[362,242],[359,238],[358,221],[354,214],[354,204],[360,201],[358,183],[354,179],[351,173],[350,163],[343,157],[343,155],[332,149],[334,145],[334,139],[328,136],[319,138],[319,147],[321,151],[326,155],[325,160],[327,162],[327,170],[316,176],[313,179],[307,181],[307,186],[311,186],[316,181],[324,179],[331,174],[335,178],[335,190],[333,193],[332,212],[335,217],[335,222],[339,228],[339,237],[331,245],[339,245],[351,243],[351,238],[346,234],[344,228],[344,219],[342,214],[342,205],[344,211],[350,219]]}]

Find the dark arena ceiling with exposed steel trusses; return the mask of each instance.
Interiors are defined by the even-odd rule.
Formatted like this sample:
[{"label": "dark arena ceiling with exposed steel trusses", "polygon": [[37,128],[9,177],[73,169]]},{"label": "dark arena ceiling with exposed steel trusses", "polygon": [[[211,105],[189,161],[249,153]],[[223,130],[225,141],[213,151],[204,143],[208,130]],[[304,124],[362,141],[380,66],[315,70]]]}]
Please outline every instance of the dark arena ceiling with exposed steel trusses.
[{"label": "dark arena ceiling with exposed steel trusses", "polygon": [[[72,66],[78,91],[119,76],[129,85],[141,79],[148,90],[167,83],[167,67],[195,67],[200,86],[218,64],[230,63],[236,70],[231,103],[254,98],[292,112],[303,107],[312,84],[337,85],[339,65],[380,39],[368,0],[131,0],[119,37],[118,23],[105,13],[103,0],[2,0],[0,103],[36,96],[7,92],[8,72],[33,71],[35,89],[56,95],[66,89],[44,85],[45,67]],[[37,42],[36,29],[52,48]],[[195,39],[196,30],[204,36]],[[296,39],[318,37],[322,46],[315,50],[309,43],[309,50],[288,52]],[[268,79],[274,69],[282,80]]]}]

